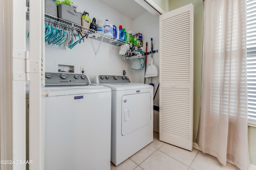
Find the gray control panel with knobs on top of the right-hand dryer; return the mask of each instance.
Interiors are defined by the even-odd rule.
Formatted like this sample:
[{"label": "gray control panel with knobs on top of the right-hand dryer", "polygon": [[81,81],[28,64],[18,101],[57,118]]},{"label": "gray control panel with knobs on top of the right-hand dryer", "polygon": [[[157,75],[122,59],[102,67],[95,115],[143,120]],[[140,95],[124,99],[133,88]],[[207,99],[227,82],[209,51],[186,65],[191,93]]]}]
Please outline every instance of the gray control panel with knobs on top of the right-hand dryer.
[{"label": "gray control panel with knobs on top of the right-hand dryer", "polygon": [[99,75],[98,78],[96,77],[96,82],[97,83],[130,83],[131,81],[127,76]]}]

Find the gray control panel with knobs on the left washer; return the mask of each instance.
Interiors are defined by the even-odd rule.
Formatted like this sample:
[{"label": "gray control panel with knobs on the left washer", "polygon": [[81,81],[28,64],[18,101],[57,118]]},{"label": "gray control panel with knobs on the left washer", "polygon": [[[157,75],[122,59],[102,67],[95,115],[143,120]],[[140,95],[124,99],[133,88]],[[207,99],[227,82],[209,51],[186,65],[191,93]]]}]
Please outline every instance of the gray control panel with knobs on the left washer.
[{"label": "gray control panel with knobs on the left washer", "polygon": [[45,86],[85,86],[86,84],[90,84],[90,80],[85,74],[70,72],[45,73]]}]

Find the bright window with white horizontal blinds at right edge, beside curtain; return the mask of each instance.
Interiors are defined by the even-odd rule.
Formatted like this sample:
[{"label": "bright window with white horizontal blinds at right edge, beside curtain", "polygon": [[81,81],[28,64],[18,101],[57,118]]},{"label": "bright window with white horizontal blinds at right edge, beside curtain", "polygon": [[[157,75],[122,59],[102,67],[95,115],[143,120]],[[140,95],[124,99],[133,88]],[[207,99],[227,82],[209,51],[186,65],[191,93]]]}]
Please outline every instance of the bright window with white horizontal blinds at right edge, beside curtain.
[{"label": "bright window with white horizontal blinds at right edge, beside curtain", "polygon": [[256,125],[256,0],[247,0],[248,123]]}]

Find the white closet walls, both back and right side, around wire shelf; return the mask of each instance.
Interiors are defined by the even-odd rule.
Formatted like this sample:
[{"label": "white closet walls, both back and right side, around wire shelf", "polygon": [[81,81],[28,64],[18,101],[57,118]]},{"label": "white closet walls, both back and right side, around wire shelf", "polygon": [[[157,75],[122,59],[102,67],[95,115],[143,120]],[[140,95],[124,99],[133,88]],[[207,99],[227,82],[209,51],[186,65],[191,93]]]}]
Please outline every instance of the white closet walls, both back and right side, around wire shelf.
[{"label": "white closet walls, both back and right side, around wire shelf", "polygon": [[[98,0],[76,0],[74,4],[78,4],[82,11],[86,10],[91,19],[93,17],[98,20],[108,19],[116,27],[122,25],[126,30],[132,30],[132,33],[142,33],[143,47],[146,51],[146,42],[148,42],[148,51],[151,50],[151,41],[153,38],[153,50],[159,50],[159,16],[153,16],[149,12],[145,12],[138,18],[131,20],[126,16],[120,14],[111,7],[103,4]],[[27,22],[28,24],[28,22]],[[28,31],[28,30],[27,30]],[[101,43],[98,53],[95,51],[98,48],[100,41],[91,38],[85,39],[85,42],[76,45],[71,50],[56,45],[45,45],[45,70],[46,72],[56,72],[58,68],[56,65],[67,64],[74,65],[74,72],[80,73],[80,66],[85,67],[85,74],[87,74],[92,82],[94,77],[98,74],[120,74],[126,70],[126,75],[129,76],[132,82],[144,83],[145,67],[142,70],[132,70],[132,60],[124,60],[119,55],[120,47],[108,43]],[[150,63],[151,55],[147,57],[147,66]],[[159,68],[159,52],[153,54],[154,64]],[[65,69],[64,69],[65,70]],[[159,83],[159,76],[153,77],[154,93]],[[148,83],[151,83],[149,78]],[[154,105],[159,106],[158,94],[154,101]],[[159,113],[154,111],[154,131],[158,131]]]}]

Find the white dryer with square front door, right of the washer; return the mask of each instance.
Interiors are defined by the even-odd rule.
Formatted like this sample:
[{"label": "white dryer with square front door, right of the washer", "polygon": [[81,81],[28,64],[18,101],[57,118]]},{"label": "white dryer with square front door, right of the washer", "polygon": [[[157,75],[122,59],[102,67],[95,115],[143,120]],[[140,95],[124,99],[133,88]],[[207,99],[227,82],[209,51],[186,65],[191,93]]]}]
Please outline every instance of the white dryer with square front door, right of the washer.
[{"label": "white dryer with square front door, right of the washer", "polygon": [[153,86],[127,76],[98,75],[112,90],[111,161],[118,165],[153,141]]}]

